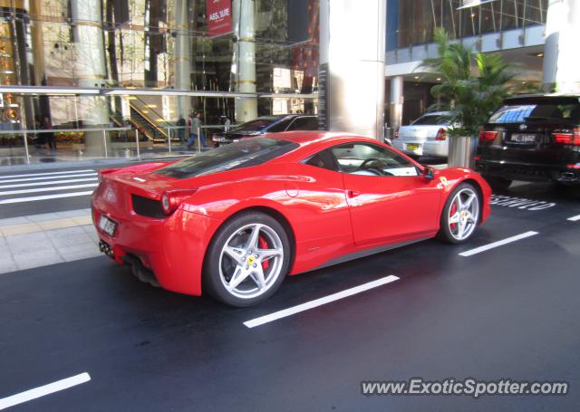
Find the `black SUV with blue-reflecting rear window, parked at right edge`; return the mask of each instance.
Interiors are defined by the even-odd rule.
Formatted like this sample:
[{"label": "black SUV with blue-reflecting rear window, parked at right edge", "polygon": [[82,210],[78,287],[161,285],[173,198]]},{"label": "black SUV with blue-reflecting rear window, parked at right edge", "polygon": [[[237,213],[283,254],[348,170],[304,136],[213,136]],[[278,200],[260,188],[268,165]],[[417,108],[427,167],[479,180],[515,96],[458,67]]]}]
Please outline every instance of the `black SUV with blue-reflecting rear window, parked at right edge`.
[{"label": "black SUV with blue-reflecting rear window, parked at right edge", "polygon": [[580,184],[580,96],[504,101],[479,133],[476,169],[494,188],[512,180]]}]

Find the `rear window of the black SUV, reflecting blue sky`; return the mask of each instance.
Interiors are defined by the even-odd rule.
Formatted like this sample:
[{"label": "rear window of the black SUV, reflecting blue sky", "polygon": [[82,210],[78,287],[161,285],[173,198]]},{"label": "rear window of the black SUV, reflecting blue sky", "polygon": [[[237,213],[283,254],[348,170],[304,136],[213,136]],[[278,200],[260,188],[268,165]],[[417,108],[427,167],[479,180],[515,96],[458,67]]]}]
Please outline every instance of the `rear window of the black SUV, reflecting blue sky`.
[{"label": "rear window of the black SUV, reflecting blue sky", "polygon": [[499,108],[489,123],[524,123],[526,120],[578,120],[580,105],[576,103],[506,104]]}]

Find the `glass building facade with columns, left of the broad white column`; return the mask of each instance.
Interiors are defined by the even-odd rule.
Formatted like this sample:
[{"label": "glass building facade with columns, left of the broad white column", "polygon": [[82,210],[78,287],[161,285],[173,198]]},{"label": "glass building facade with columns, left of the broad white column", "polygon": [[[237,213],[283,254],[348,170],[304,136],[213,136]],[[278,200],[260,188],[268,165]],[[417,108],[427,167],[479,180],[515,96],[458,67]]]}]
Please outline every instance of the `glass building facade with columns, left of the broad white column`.
[{"label": "glass building facade with columns, left of the broad white column", "polygon": [[248,99],[255,115],[314,113],[317,70],[317,0],[0,0],[0,147],[47,127],[164,141],[192,111],[246,120]]}]

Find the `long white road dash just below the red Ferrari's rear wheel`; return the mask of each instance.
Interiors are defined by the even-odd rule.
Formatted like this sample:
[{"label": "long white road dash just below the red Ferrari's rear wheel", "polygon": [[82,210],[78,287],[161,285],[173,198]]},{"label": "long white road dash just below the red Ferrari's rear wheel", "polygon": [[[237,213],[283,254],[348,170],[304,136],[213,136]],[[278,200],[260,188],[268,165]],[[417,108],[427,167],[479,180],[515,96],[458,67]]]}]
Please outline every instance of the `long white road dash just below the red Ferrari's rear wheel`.
[{"label": "long white road dash just below the red Ferrari's rear wheel", "polygon": [[383,284],[398,281],[399,279],[400,278],[398,276],[394,276],[391,274],[387,277],[383,277],[381,279],[377,279],[376,281],[372,281],[369,283],[361,284],[359,286],[355,286],[355,287],[353,287],[351,289],[347,289],[343,292],[336,292],[336,293],[330,294],[328,296],[324,296],[324,298],[315,299],[314,301],[311,301],[311,302],[305,302],[305,303],[293,306],[291,308],[284,309],[282,311],[275,311],[274,313],[270,313],[269,315],[260,316],[259,318],[252,319],[250,321],[245,321],[244,325],[246,325],[250,329],[256,328],[256,326],[260,326],[260,325],[263,325],[263,324],[271,322],[271,321],[277,321],[278,319],[282,319],[282,318],[285,318],[287,316],[294,315],[294,314],[299,313],[301,311],[308,311],[309,309],[313,309],[313,308],[316,308],[318,306],[322,306],[326,303],[338,301],[339,299],[347,298],[349,296],[353,296],[354,294],[365,292],[365,291],[368,291],[370,289],[382,286]]}]

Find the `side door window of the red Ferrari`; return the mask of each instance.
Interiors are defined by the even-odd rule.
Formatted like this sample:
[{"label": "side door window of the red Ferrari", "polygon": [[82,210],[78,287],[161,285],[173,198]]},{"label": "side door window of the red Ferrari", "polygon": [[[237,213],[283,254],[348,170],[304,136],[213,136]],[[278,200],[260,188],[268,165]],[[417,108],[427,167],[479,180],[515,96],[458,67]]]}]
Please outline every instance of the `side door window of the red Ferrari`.
[{"label": "side door window of the red Ferrari", "polygon": [[406,158],[372,143],[348,143],[331,149],[343,173],[362,176],[419,176]]}]

